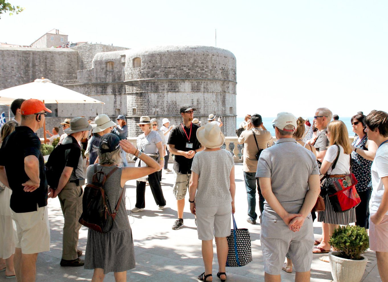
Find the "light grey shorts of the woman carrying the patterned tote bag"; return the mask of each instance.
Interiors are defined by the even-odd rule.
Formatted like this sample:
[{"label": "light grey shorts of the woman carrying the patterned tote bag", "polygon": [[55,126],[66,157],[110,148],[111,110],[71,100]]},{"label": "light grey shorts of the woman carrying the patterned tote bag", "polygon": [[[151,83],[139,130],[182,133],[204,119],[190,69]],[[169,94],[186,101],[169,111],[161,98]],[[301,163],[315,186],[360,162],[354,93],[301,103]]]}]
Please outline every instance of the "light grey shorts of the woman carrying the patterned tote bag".
[{"label": "light grey shorts of the woman carrying the patterned tote bag", "polygon": [[199,240],[213,240],[214,237],[230,235],[232,204],[218,207],[197,207],[197,232]]}]

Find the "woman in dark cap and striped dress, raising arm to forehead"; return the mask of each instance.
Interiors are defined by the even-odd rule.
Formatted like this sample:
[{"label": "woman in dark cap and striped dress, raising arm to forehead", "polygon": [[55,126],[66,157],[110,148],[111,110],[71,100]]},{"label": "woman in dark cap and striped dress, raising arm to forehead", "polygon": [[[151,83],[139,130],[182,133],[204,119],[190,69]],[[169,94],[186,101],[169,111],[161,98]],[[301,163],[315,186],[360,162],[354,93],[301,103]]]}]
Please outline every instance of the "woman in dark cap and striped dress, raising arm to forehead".
[{"label": "woman in dark cap and striped dress, raising arm to forehead", "polygon": [[[159,164],[146,154],[142,154],[128,140],[107,133],[101,137],[98,157],[99,163],[96,164],[97,171],[103,171],[108,175],[104,184],[104,192],[109,199],[111,213],[116,208],[116,203],[123,194],[125,199],[125,182],[131,179],[142,177],[154,173],[160,169]],[[132,154],[147,166],[141,168],[123,167],[121,164],[121,151]],[[88,183],[92,182],[95,168],[90,165],[87,168]],[[103,281],[106,273],[114,272],[116,281],[126,281],[126,271],[135,268],[135,255],[133,249],[132,231],[128,221],[125,208],[125,201],[120,201],[120,206],[113,221],[112,229],[107,233],[100,233],[88,229],[88,240],[85,254],[85,269],[94,269],[92,281]]]}]

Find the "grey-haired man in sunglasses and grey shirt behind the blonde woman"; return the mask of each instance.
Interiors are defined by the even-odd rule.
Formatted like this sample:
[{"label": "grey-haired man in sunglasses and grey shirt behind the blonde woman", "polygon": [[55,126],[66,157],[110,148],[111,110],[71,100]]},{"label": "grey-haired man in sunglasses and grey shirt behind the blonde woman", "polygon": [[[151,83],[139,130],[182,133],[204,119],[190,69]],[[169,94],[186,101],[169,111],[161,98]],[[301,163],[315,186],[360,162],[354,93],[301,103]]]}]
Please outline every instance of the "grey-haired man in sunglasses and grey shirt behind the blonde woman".
[{"label": "grey-haired man in sunglasses and grey shirt behind the blonde woman", "polygon": [[317,149],[317,160],[319,166],[325,157],[327,147],[329,147],[329,139],[327,139],[326,136],[326,127],[332,116],[333,113],[327,108],[318,108],[317,111],[315,111],[314,122],[315,127],[318,128],[318,132],[314,147]]}]

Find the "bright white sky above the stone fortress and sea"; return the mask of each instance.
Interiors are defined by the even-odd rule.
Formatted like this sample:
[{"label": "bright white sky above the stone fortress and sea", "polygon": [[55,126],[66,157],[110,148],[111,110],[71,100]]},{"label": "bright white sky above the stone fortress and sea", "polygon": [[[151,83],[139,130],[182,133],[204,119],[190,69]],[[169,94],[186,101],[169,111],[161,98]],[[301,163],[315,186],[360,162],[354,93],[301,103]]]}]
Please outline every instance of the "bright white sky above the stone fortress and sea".
[{"label": "bright white sky above the stone fortress and sea", "polygon": [[0,42],[29,45],[51,29],[70,42],[128,48],[206,45],[237,61],[237,116],[317,107],[353,116],[388,110],[388,1],[8,0]]}]

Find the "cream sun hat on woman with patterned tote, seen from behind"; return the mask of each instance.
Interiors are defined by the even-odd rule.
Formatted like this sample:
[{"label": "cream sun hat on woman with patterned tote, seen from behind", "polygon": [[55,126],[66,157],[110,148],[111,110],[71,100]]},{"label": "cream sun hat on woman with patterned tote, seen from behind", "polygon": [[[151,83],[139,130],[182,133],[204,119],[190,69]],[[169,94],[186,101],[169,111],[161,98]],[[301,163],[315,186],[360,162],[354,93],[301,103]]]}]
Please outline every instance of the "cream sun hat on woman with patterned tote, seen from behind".
[{"label": "cream sun hat on woman with patterned tote, seen from behind", "polygon": [[209,149],[220,148],[225,142],[225,136],[217,123],[207,123],[197,129],[197,139],[204,147]]}]

